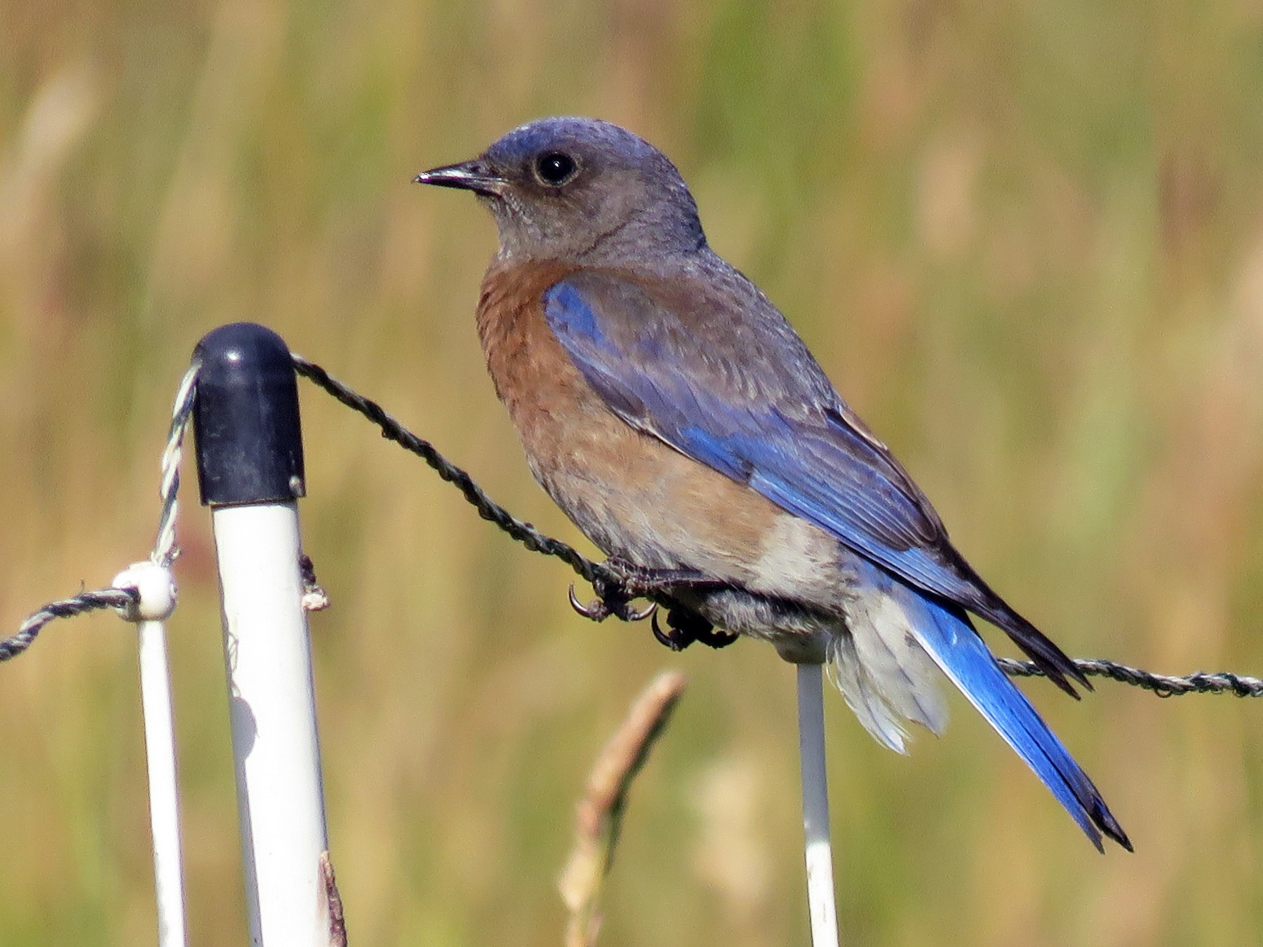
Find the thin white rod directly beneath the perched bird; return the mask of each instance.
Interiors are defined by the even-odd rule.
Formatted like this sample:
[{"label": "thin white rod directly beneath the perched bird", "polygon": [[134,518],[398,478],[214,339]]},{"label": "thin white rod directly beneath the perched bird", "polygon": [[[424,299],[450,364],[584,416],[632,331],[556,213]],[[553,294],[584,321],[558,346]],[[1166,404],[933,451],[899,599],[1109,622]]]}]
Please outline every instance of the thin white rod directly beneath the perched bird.
[{"label": "thin white rod directly beneath the perched bird", "polygon": [[807,855],[807,905],[812,947],[837,947],[834,851],[829,841],[825,775],[825,703],[820,664],[798,664],[798,753],[802,756],[802,826]]}]

